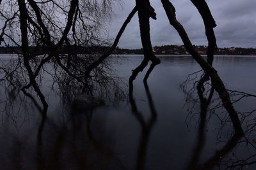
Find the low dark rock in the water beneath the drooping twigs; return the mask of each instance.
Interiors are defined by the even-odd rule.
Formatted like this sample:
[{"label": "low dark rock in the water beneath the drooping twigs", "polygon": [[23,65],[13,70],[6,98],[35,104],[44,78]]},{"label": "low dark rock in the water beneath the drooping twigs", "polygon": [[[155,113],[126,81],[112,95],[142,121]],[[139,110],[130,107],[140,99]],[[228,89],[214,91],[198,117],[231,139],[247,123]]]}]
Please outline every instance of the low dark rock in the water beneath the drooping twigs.
[{"label": "low dark rock in the water beneath the drooping twigs", "polygon": [[93,96],[79,96],[74,99],[72,108],[74,109],[92,109],[98,106],[104,106],[105,101],[99,97]]}]

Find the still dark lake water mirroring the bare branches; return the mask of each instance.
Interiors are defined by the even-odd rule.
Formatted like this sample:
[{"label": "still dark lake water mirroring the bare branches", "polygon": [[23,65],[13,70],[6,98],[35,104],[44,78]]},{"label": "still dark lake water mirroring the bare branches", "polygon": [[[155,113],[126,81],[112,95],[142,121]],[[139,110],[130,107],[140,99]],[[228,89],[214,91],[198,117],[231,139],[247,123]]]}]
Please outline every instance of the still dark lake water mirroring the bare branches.
[{"label": "still dark lake water mirroring the bare branches", "polygon": [[[50,106],[42,122],[29,100],[28,113],[22,114],[24,105],[19,113],[11,113],[12,104],[20,101],[6,104],[2,88],[0,169],[256,169],[256,97],[234,103],[244,129],[244,137],[236,139],[216,92],[211,111],[200,118],[193,81],[183,83],[200,70],[195,60],[182,55],[159,57],[161,64],[148,78],[148,90],[143,84],[145,71],[134,81],[137,111],[122,99],[90,111],[63,113],[61,99],[46,77],[44,94]],[[131,70],[142,59],[141,55],[113,57],[124,91]],[[9,58],[3,55],[1,60]],[[213,66],[227,89],[256,94],[256,57],[218,56]],[[9,112],[12,116],[6,118]]]}]

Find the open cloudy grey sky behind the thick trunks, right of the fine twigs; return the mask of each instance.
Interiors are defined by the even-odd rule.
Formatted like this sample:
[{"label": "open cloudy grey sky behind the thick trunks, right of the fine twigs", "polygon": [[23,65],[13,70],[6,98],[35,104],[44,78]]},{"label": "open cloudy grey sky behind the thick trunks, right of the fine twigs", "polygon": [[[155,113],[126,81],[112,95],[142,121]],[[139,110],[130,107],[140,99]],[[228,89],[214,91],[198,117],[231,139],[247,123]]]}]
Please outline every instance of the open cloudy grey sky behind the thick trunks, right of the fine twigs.
[{"label": "open cloudy grey sky behind the thick trunks, right of the fine twigs", "polygon": [[[135,6],[135,0],[123,0],[114,6],[109,38],[115,38],[125,18]],[[150,1],[157,20],[150,20],[152,45],[182,45],[177,31],[169,24],[160,0]],[[177,19],[195,45],[207,45],[204,23],[189,0],[172,0]],[[207,0],[217,27],[214,29],[220,47],[241,46],[256,48],[256,0]],[[120,39],[120,48],[141,48],[138,14],[134,16]]]}]

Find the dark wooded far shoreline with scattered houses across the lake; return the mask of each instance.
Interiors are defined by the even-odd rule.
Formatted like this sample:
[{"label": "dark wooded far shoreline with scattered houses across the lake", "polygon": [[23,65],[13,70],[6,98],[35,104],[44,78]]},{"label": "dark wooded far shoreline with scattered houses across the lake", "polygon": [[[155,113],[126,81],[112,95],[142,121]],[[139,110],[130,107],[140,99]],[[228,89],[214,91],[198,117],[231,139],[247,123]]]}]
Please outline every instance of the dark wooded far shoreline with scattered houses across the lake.
[{"label": "dark wooded far shoreline with scattered houses across the lake", "polygon": [[[207,46],[194,46],[198,53],[206,55]],[[58,48],[58,53],[99,53],[108,50],[109,46],[61,46]],[[29,46],[29,52],[34,55],[49,53],[47,48],[44,46]],[[154,46],[153,52],[157,55],[182,55],[189,54],[184,45],[162,45]],[[0,47],[0,53],[22,53],[22,50],[19,46],[9,46],[9,47]],[[256,48],[241,48],[241,47],[230,47],[230,48],[218,48],[216,50],[216,55],[256,55]],[[113,54],[143,54],[143,48],[138,49],[126,49],[126,48],[116,48]]]}]

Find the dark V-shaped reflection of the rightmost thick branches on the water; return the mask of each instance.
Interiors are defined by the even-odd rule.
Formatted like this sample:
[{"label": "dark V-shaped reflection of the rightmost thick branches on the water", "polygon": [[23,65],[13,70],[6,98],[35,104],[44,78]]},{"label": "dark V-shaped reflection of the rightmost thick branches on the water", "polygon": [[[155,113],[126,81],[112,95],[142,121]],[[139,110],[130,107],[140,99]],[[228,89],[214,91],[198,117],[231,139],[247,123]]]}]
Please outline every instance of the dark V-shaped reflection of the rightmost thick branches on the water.
[{"label": "dark V-shaped reflection of the rightmost thick branches on the water", "polygon": [[[204,76],[201,76],[199,81],[193,80],[194,86],[192,88],[195,87],[195,84],[197,82],[196,89],[197,89],[198,97],[199,97],[199,101],[200,101],[200,122],[198,125],[198,138],[196,139],[196,146],[191,155],[191,161],[189,162],[189,165],[186,169],[205,169],[206,170],[206,169],[212,169],[214,166],[216,166],[218,164],[220,164],[221,168],[222,167],[230,167],[230,169],[232,169],[235,167],[243,167],[248,164],[255,163],[255,161],[253,161],[253,160],[250,162],[247,161],[249,159],[252,159],[252,157],[255,157],[255,155],[252,155],[252,156],[248,157],[247,159],[238,160],[236,162],[232,162],[232,160],[228,160],[228,161],[232,162],[231,166],[228,163],[227,164],[221,163],[221,160],[225,157],[225,155],[227,155],[232,150],[234,150],[234,148],[236,148],[236,146],[239,143],[242,143],[242,142],[246,142],[247,144],[250,143],[250,141],[248,141],[248,139],[246,139],[246,136],[245,136],[247,134],[247,131],[244,131],[244,134],[241,134],[236,129],[234,129],[235,133],[227,141],[225,146],[221,147],[220,150],[218,150],[216,153],[214,153],[214,155],[210,159],[205,161],[203,164],[199,163],[200,155],[202,154],[203,148],[205,146],[205,125],[207,122],[206,115],[207,115],[207,111],[212,111],[212,109],[209,110],[208,108],[209,108],[209,104],[211,103],[211,99],[212,99],[212,96],[214,93],[214,89],[212,87],[211,87],[211,90],[204,93],[204,91],[205,91],[204,81],[205,81]],[[206,83],[206,85],[209,85],[209,83]],[[184,85],[184,86],[186,86],[186,85]],[[204,97],[205,94],[209,94],[208,99]],[[214,109],[216,109],[216,108],[214,108]],[[228,120],[224,120],[224,121],[228,121]],[[240,141],[242,138],[244,138],[245,141]],[[252,145],[252,143],[250,143],[250,145]],[[253,145],[252,145],[252,147],[253,147]],[[248,164],[245,164],[244,162],[246,162]]]}]

